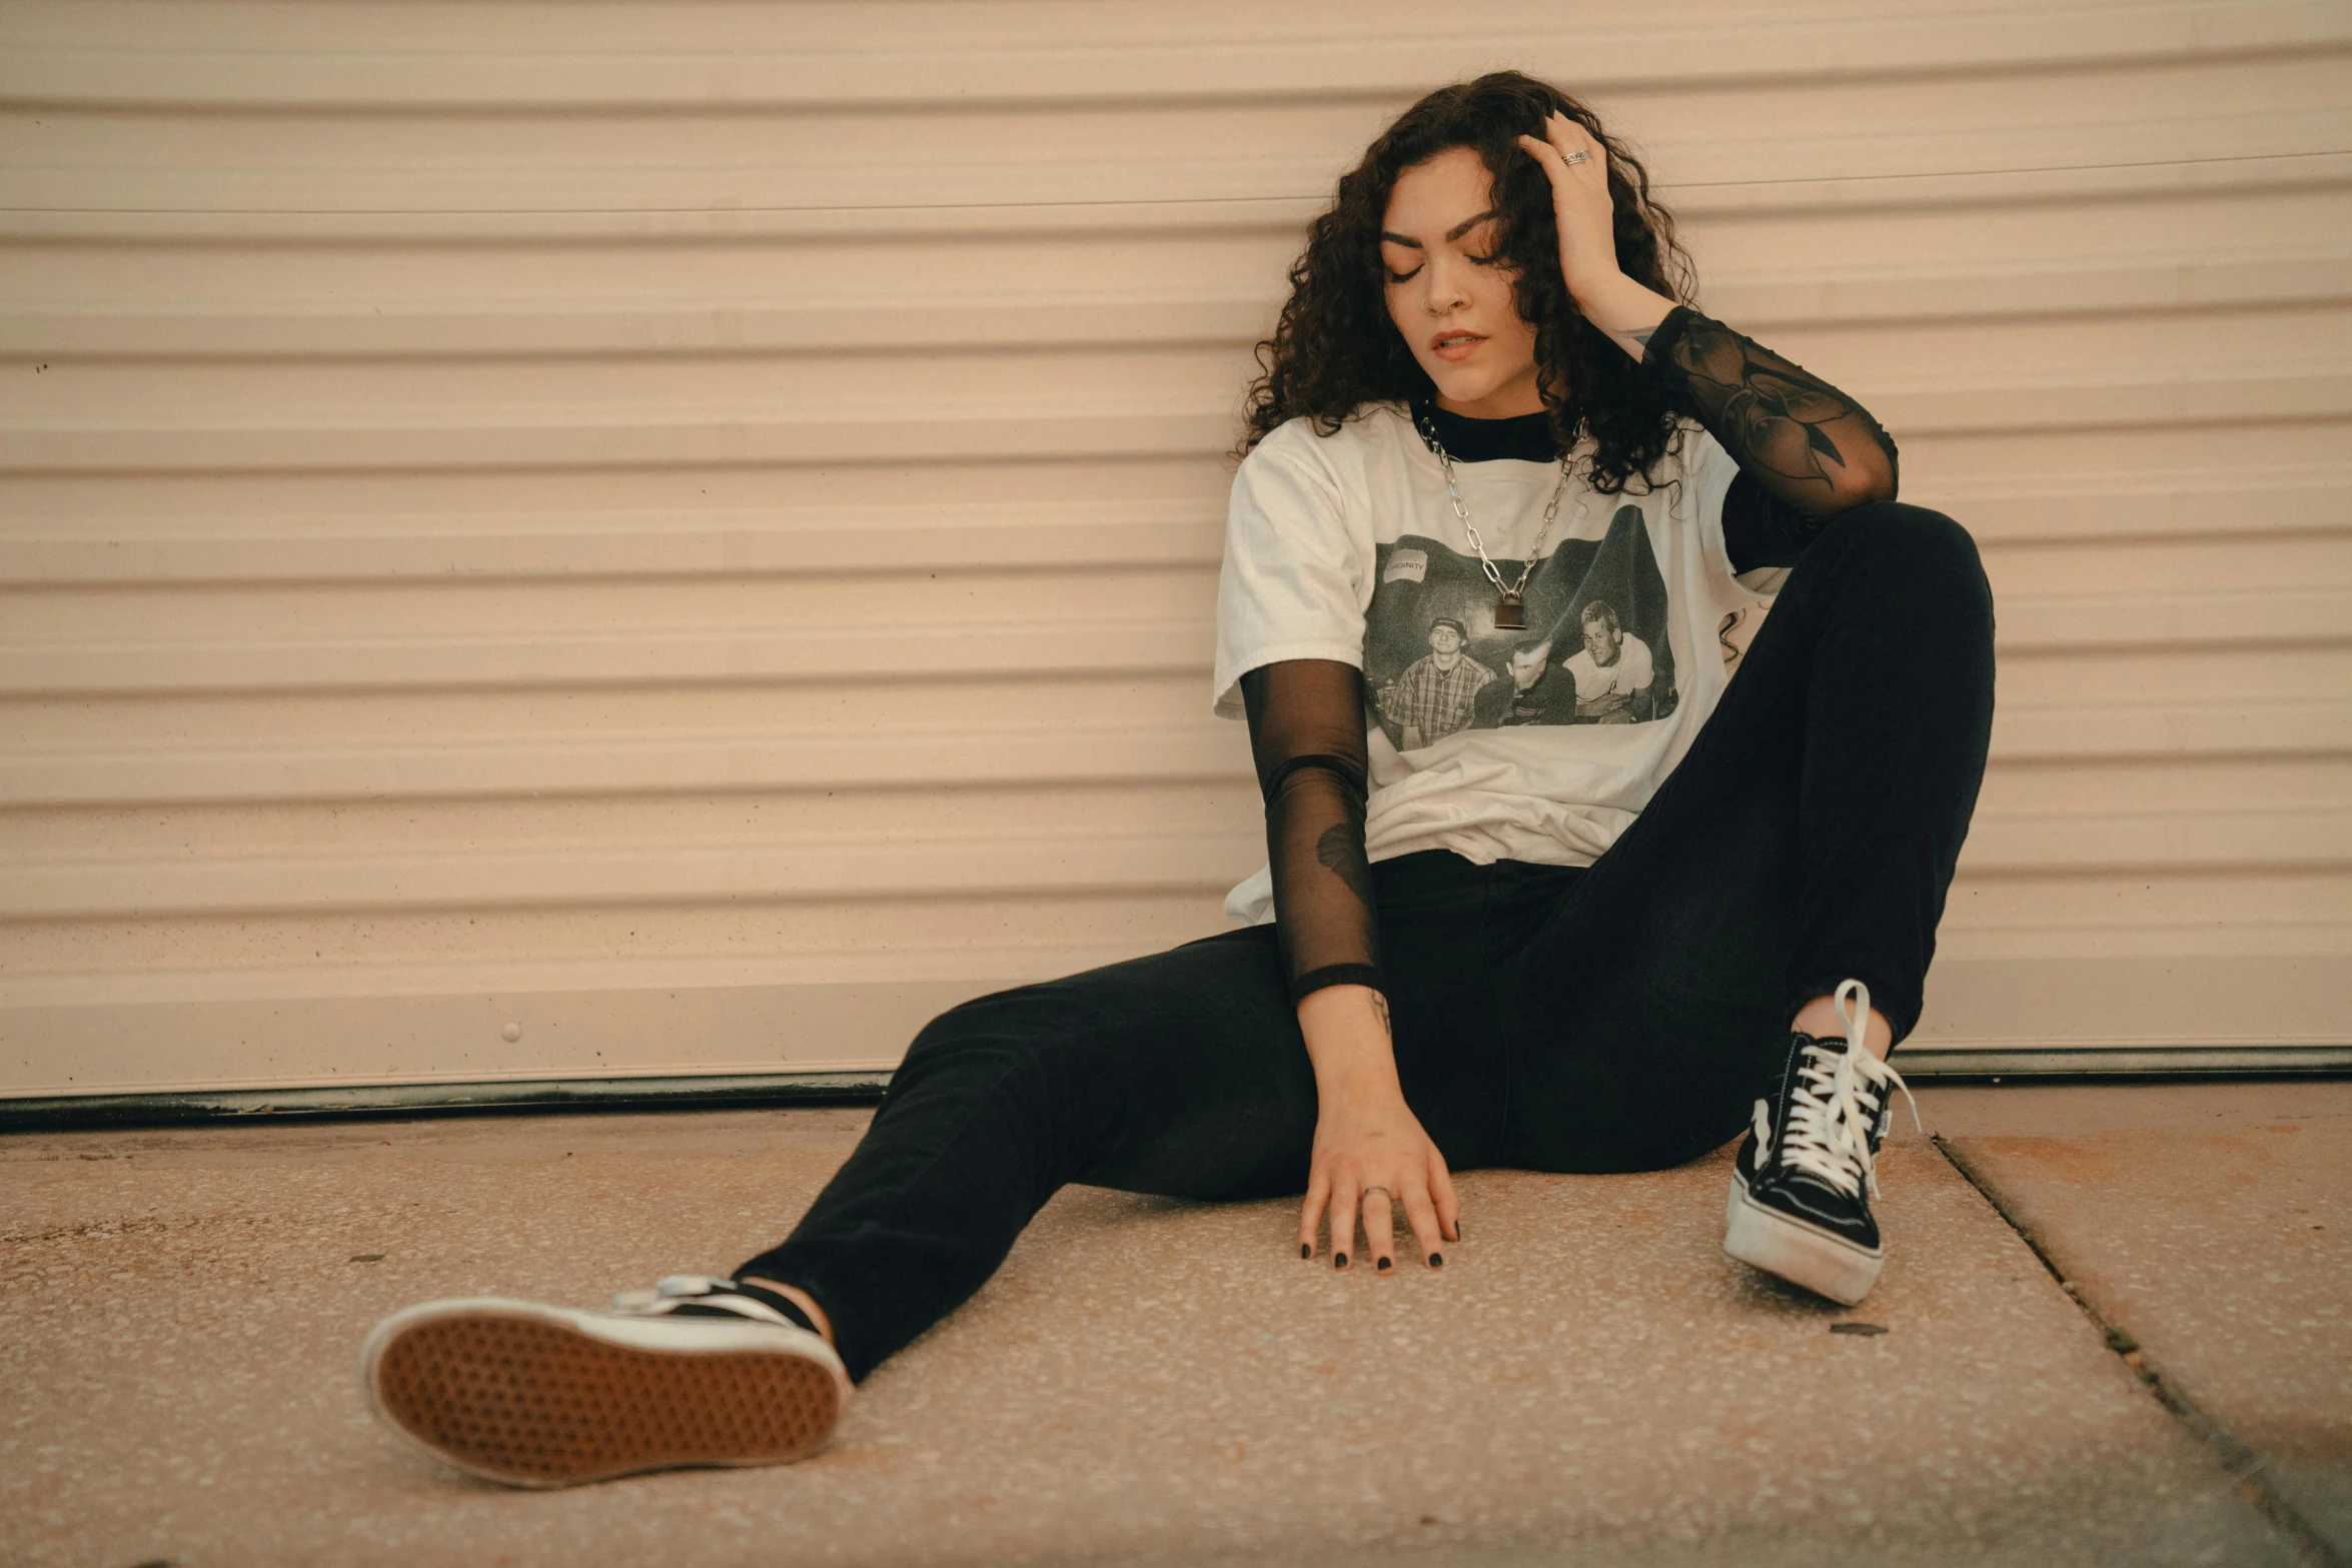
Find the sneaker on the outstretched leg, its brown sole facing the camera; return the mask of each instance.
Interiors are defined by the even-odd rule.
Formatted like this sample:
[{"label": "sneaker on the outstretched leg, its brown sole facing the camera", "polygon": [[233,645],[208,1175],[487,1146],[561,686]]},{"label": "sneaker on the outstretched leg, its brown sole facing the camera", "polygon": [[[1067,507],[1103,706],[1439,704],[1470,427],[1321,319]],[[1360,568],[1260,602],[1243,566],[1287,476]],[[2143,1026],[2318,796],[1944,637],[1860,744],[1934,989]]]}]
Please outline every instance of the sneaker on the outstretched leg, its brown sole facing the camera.
[{"label": "sneaker on the outstretched leg, its brown sole facing the camera", "polygon": [[612,1312],[440,1300],[376,1324],[360,1385],[435,1460],[508,1486],[673,1465],[783,1465],[849,1406],[823,1335],[731,1279],[673,1274]]}]

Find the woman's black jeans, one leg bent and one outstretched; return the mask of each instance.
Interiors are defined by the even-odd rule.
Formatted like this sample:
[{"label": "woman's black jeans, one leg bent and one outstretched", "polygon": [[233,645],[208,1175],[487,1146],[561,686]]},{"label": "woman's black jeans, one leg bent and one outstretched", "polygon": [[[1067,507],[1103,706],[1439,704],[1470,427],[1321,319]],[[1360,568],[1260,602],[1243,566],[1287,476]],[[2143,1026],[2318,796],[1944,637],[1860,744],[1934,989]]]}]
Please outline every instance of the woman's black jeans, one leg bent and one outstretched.
[{"label": "woman's black jeans, one leg bent and one outstretched", "polygon": [[[1656,1171],[1740,1131],[1858,978],[1903,1039],[1985,771],[1992,592],[1910,505],[1823,529],[1682,766],[1595,865],[1374,865],[1404,1098],[1456,1171]],[[783,1246],[863,1378],[1063,1182],[1305,1190],[1315,1074],[1275,929],[967,1001],[915,1037]]]}]

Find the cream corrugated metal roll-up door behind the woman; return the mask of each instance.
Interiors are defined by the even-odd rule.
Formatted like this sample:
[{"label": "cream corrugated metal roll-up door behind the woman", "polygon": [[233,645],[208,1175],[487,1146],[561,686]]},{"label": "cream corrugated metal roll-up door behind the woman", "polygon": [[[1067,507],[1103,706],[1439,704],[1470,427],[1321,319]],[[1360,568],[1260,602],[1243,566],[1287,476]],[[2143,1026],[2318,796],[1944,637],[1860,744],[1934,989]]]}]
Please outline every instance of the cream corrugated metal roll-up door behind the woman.
[{"label": "cream corrugated metal roll-up door behind the woman", "polygon": [[1910,1065],[2352,1060],[2352,7],[1569,9],[12,0],[0,1095],[877,1070],[1218,929],[1249,343],[1501,63],[1985,545]]}]

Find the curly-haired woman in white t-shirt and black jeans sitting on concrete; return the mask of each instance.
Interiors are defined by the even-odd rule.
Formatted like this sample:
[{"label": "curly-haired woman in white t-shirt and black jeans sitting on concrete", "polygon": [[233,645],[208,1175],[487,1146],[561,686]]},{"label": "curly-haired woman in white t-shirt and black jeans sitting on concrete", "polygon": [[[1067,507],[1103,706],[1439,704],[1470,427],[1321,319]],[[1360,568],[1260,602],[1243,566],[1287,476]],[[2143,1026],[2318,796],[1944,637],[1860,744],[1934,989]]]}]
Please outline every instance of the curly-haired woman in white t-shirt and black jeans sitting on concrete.
[{"label": "curly-haired woman in white t-shirt and black jeans sitting on concrete", "polygon": [[1743,1128],[1726,1251],[1860,1300],[1992,599],[1860,404],[1689,299],[1646,172],[1564,92],[1406,110],[1291,268],[1232,484],[1251,924],[927,1025],[731,1279],[386,1319],[374,1408],[524,1486],[793,1460],[1065,1182],[1303,1187],[1287,1246],[1338,1269],[1395,1269],[1402,1208],[1435,1269],[1454,1171],[1656,1171]]}]

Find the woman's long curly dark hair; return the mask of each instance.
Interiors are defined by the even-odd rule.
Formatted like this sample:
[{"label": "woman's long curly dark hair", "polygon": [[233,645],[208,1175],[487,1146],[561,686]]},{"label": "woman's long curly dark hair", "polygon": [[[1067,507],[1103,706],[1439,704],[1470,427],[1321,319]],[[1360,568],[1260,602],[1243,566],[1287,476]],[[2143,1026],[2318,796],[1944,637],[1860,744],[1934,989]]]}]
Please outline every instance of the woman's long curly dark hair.
[{"label": "woman's long curly dark hair", "polygon": [[1675,414],[1632,357],[1578,313],[1559,275],[1552,181],[1519,146],[1522,134],[1543,134],[1552,110],[1578,120],[1609,150],[1625,275],[1682,303],[1696,296],[1691,256],[1675,240],[1672,214],[1649,193],[1649,169],[1590,108],[1517,71],[1439,87],[1371,143],[1364,162],[1341,176],[1331,209],[1308,228],[1275,336],[1258,343],[1261,376],[1249,386],[1249,425],[1235,456],[1289,418],[1312,418],[1331,435],[1364,404],[1435,397],[1428,371],[1388,317],[1381,223],[1399,174],[1446,148],[1470,148],[1494,176],[1496,254],[1512,277],[1519,315],[1536,329],[1536,386],[1559,449],[1590,433],[1597,447],[1590,477],[1609,494],[1649,475],[1675,440]]}]

